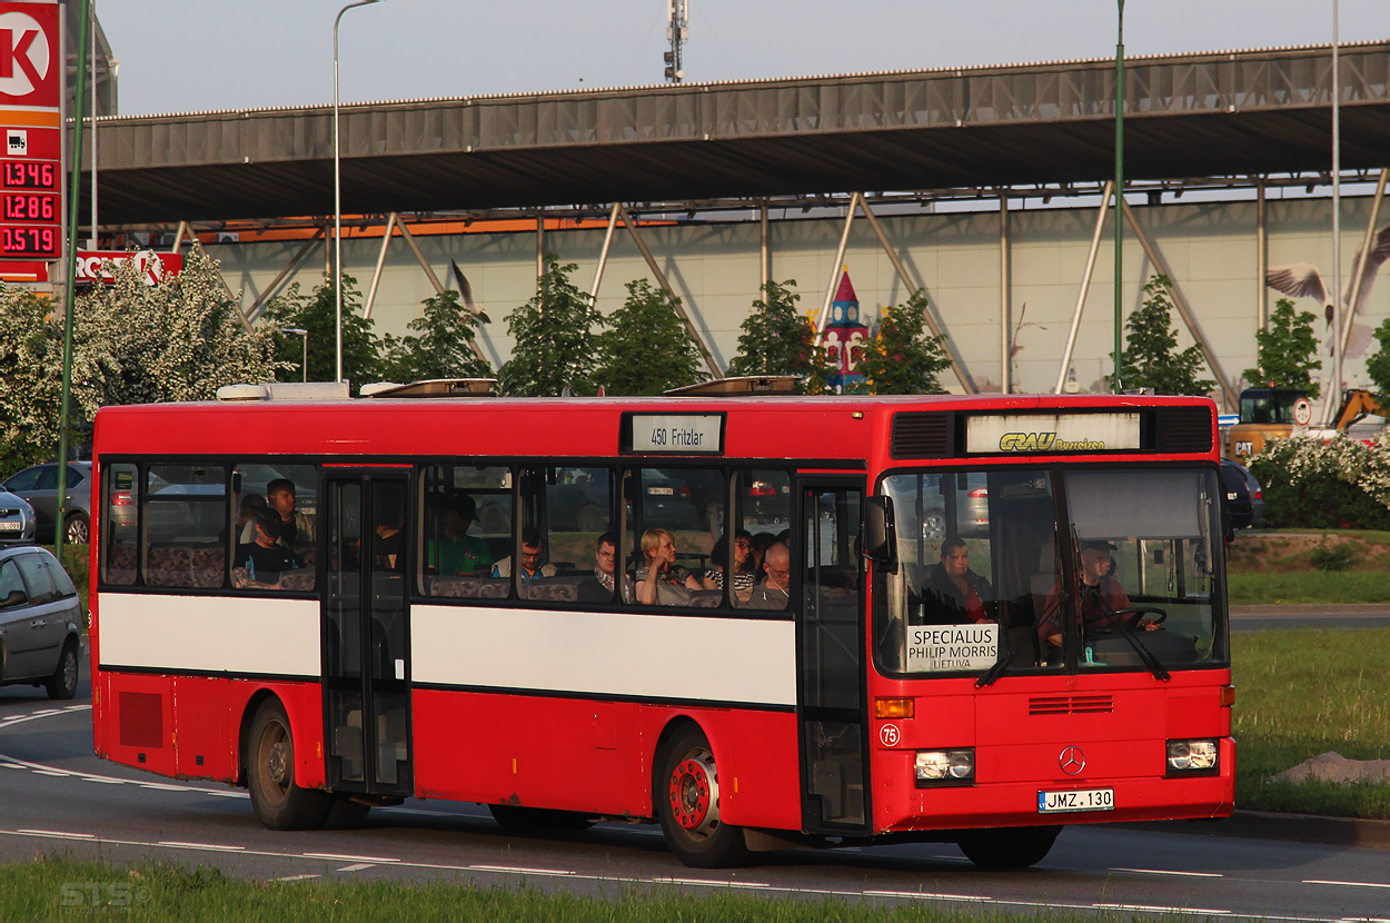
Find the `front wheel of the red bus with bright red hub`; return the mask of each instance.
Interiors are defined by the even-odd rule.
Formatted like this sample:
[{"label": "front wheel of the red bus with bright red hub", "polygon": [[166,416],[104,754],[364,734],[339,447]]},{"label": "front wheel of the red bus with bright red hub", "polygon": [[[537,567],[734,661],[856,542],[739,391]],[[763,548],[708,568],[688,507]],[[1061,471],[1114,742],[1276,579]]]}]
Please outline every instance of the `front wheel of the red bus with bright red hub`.
[{"label": "front wheel of the red bus with bright red hub", "polygon": [[719,767],[705,734],[677,730],[662,746],[652,780],[656,817],[666,845],[695,869],[748,865],[744,830],[719,816]]}]

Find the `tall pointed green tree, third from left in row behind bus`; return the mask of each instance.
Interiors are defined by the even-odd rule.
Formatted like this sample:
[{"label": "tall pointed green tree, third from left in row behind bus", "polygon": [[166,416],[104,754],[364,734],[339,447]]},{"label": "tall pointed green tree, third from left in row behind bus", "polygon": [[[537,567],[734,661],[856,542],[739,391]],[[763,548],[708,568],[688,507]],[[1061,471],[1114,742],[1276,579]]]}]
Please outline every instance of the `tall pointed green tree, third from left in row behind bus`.
[{"label": "tall pointed green tree, third from left in row behind bus", "polygon": [[503,393],[553,398],[566,388],[577,395],[598,392],[594,328],[603,321],[592,311],[589,293],[570,281],[577,268],[546,253],[535,297],[507,316],[507,332],[516,346],[512,359],[498,370]]}]

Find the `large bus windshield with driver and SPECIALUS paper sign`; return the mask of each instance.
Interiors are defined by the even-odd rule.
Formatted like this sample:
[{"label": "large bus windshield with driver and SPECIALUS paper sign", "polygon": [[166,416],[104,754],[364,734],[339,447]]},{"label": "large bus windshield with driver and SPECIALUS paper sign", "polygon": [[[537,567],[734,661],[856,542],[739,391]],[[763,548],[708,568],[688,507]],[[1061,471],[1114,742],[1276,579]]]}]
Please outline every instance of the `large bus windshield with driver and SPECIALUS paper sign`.
[{"label": "large bus windshield with driver and SPECIALUS paper sign", "polygon": [[1227,663],[1208,467],[895,473],[895,567],[874,575],[890,674]]}]

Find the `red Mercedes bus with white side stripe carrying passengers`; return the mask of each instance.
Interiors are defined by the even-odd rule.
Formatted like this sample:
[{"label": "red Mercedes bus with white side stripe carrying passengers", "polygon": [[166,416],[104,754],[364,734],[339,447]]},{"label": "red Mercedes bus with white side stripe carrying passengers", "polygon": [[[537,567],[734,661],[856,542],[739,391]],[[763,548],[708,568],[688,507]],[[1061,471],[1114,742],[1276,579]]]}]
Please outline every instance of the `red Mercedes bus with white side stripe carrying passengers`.
[{"label": "red Mercedes bus with white side stripe carrying passengers", "polygon": [[1209,400],[247,393],[96,417],[106,759],[695,866],[1233,808]]}]

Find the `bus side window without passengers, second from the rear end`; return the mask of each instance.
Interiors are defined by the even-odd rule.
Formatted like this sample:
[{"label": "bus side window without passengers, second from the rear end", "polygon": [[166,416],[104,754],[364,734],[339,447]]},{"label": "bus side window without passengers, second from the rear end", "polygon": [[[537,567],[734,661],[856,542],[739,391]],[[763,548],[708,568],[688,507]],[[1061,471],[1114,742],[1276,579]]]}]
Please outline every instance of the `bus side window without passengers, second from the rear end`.
[{"label": "bus side window without passengers, second from the rear end", "polygon": [[221,588],[227,582],[227,467],[152,464],[140,528],[147,587]]}]

